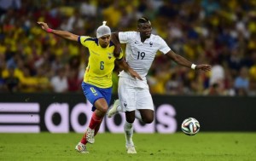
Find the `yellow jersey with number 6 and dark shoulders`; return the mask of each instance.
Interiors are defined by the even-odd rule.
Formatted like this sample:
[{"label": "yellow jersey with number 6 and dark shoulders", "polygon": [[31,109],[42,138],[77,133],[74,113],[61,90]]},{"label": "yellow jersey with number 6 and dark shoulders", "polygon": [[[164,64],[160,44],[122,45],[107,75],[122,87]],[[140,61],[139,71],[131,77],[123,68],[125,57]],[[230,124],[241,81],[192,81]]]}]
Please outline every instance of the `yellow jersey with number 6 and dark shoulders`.
[{"label": "yellow jersey with number 6 and dark shoulders", "polygon": [[79,43],[89,49],[90,56],[88,66],[84,72],[84,83],[90,83],[96,87],[107,89],[112,87],[112,72],[115,59],[122,59],[113,56],[113,43],[110,42],[107,48],[102,48],[98,38],[80,36]]}]

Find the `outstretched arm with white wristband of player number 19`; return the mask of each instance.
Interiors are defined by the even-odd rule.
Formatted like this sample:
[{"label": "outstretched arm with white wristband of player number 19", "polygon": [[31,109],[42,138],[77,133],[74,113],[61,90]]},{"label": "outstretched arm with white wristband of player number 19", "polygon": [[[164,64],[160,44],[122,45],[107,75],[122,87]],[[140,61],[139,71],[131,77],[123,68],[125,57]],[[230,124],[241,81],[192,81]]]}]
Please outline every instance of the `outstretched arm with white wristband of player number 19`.
[{"label": "outstretched arm with white wristband of player number 19", "polygon": [[187,66],[189,68],[191,67],[192,69],[196,69],[196,70],[199,69],[205,72],[211,71],[211,68],[212,68],[212,66],[207,64],[195,65],[191,63],[189,60],[186,60],[185,58],[183,58],[181,55],[175,54],[172,50],[168,51],[166,55],[169,56],[172,60],[174,60],[177,64],[181,66]]}]

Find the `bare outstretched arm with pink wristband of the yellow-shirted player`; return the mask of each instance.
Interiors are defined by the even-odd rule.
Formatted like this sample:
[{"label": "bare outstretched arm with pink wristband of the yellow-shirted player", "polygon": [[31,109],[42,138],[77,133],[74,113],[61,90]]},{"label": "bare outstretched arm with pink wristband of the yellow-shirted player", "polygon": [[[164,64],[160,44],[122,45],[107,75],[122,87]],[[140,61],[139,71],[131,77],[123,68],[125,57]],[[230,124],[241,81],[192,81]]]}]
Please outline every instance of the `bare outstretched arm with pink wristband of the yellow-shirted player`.
[{"label": "bare outstretched arm with pink wristband of the yellow-shirted player", "polygon": [[38,24],[46,32],[54,33],[55,35],[57,35],[59,37],[66,38],[68,40],[78,41],[79,36],[75,35],[75,34],[73,34],[71,32],[61,31],[61,30],[53,30],[53,29],[49,28],[49,26],[45,22],[38,22]]}]

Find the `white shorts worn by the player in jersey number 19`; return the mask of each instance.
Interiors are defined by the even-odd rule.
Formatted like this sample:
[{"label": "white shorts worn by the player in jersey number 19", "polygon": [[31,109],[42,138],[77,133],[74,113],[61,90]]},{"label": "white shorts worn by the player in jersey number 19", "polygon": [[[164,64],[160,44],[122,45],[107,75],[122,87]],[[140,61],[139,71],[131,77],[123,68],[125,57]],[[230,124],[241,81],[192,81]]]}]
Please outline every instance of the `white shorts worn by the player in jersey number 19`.
[{"label": "white shorts worn by the player in jersey number 19", "polygon": [[138,109],[154,111],[152,96],[149,93],[147,80],[119,78],[119,101],[123,112]]}]

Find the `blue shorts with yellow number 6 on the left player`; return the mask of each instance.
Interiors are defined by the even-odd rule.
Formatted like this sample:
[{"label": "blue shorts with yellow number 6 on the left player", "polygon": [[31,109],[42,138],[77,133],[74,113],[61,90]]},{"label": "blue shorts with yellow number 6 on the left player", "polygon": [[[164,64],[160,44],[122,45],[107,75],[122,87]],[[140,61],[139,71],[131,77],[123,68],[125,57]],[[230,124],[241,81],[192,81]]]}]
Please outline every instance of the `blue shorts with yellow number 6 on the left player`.
[{"label": "blue shorts with yellow number 6 on the left player", "polygon": [[91,111],[94,112],[96,110],[94,103],[100,98],[104,98],[107,101],[108,106],[109,106],[110,101],[111,101],[111,95],[112,95],[112,87],[110,87],[108,89],[102,89],[102,88],[98,88],[94,85],[91,85],[89,83],[83,82],[82,89],[84,91],[84,95],[85,95],[86,99],[88,101],[90,101],[90,103],[93,105],[91,108]]}]

